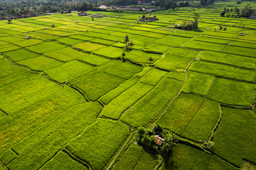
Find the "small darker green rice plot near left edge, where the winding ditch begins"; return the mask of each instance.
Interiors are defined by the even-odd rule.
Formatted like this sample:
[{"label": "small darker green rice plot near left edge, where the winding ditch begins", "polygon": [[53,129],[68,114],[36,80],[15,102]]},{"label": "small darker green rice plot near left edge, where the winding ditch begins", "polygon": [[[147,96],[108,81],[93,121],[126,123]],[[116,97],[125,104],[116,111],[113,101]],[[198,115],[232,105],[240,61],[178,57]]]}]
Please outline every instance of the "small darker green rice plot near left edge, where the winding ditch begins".
[{"label": "small darker green rice plot near left edge, where the winding ditch begins", "polygon": [[12,59],[12,61],[14,61],[14,62],[39,56],[39,54],[30,52],[25,49],[12,50],[12,51],[8,51],[8,52],[4,52],[4,54],[6,56],[10,57]]}]

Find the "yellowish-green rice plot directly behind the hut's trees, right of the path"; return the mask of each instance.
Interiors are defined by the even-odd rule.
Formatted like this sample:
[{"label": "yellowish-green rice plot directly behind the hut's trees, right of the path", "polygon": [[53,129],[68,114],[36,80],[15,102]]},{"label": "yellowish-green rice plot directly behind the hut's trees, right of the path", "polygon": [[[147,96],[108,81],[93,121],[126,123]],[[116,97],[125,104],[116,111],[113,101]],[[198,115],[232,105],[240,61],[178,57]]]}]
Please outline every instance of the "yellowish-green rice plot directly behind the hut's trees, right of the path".
[{"label": "yellowish-green rice plot directly behind the hut's trees, right of the path", "polygon": [[165,128],[173,129],[177,134],[182,134],[203,102],[203,97],[181,93],[157,123]]}]

